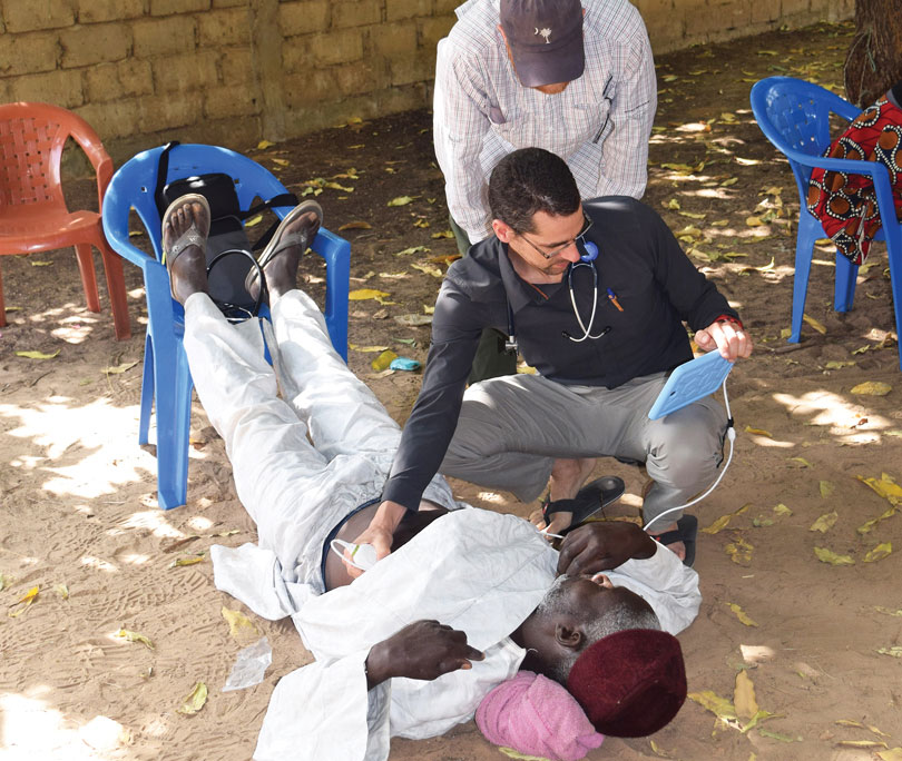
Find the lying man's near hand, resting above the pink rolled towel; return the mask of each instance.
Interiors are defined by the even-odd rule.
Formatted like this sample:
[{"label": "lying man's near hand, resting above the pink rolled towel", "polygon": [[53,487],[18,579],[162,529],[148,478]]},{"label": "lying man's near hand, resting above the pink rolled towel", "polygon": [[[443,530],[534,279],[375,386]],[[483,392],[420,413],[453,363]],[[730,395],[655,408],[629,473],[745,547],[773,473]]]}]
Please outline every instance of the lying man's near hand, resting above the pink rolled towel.
[{"label": "lying man's near hand, resting above the pink rolled towel", "polygon": [[374,644],[366,656],[371,689],[393,676],[432,681],[486,656],[467,644],[467,634],[438,621],[414,621],[388,640]]}]

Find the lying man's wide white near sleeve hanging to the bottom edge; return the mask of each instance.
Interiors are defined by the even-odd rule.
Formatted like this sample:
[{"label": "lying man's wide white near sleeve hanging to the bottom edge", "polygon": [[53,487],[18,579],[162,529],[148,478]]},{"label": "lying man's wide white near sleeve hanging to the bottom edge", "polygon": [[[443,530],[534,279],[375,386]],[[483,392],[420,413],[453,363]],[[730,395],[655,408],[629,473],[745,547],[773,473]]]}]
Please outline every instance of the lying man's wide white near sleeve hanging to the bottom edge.
[{"label": "lying man's wide white near sleeve hanging to the bottom edge", "polygon": [[255,761],[385,761],[391,680],[366,690],[369,649],[316,661],[273,691]]}]

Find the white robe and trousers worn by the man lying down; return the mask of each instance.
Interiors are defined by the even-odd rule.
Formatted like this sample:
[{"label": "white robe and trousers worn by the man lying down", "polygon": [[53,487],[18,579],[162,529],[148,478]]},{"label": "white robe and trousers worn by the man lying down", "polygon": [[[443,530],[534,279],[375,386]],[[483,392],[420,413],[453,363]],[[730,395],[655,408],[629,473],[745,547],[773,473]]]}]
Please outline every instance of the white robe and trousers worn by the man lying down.
[{"label": "white robe and trousers worn by the man lying down", "polygon": [[[198,395],[259,534],[259,545],[212,548],[216,586],[264,617],[291,615],[316,658],[276,685],[254,758],[384,761],[391,737],[435,737],[469,721],[518,671],[526,652],[509,634],[551,585],[557,552],[527,521],[457,510],[437,476],[425,496],[453,512],[350,586],[322,594],[323,540],[379,494],[398,426],[332,352],[322,316],[300,291],[273,308],[286,401],[255,323],[228,325],[198,295],[186,303],[185,325]],[[671,633],[698,611],[698,576],[669,551],[608,575],[645,597]],[[465,632],[486,659],[432,682],[394,679],[367,691],[370,648],[421,619]]]}]

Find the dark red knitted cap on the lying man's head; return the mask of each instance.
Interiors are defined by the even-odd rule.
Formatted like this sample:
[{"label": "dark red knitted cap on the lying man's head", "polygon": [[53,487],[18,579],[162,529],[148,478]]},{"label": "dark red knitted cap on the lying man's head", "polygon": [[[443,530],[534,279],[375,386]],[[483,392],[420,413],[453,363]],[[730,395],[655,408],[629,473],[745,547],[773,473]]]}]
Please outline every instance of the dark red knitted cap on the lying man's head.
[{"label": "dark red knitted cap on the lying man's head", "polygon": [[683,651],[667,632],[609,634],[577,659],[567,689],[602,734],[644,738],[666,727],[686,700]]}]

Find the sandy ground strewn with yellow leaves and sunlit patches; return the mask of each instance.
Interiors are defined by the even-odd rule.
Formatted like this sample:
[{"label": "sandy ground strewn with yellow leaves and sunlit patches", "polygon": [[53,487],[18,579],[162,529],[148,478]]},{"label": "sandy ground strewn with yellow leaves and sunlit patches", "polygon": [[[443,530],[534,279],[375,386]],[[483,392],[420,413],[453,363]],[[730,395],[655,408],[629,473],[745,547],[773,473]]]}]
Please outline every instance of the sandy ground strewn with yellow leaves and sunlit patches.
[{"label": "sandy ground strewn with yellow leaves and sunlit patches", "polygon": [[[902,660],[892,656],[902,652],[892,650],[902,645],[895,583],[902,530],[891,500],[862,481],[885,473],[902,482],[902,376],[888,337],[885,254],[873,255],[854,312],[842,316],[831,308],[832,254],[818,250],[807,310],[825,334],[806,326],[800,346],[785,345],[797,197],[786,164],[763,140],[747,106],[749,82],[771,73],[835,87],[849,32],[812,28],[659,60],[647,201],[684,236],[758,343],[729,382],[739,432],[735,462],[697,508],[709,527],[696,561],[705,600],[680,640],[692,692],[732,700],[744,670],[758,706],[774,715],[743,733],[737,722],[718,722],[687,701],[653,739],[611,739],[591,759],[845,761],[902,745]],[[339,172],[334,167],[357,175],[353,195],[326,190],[321,197],[327,226],[373,225],[346,233],[354,245],[352,287],[383,288],[399,305],[355,303],[351,342],[420,359],[428,328],[388,317],[422,312],[439,283],[410,267],[415,256],[395,253],[420,244],[433,256],[453,253],[452,241],[431,239],[444,229],[447,213],[428,128],[424,112],[405,115],[256,154],[262,160],[283,156],[290,162],[283,177],[296,189],[312,176]],[[369,150],[353,152],[364,142]],[[386,160],[389,154],[396,160]],[[347,171],[351,166],[356,171]],[[91,194],[90,184],[72,187]],[[409,208],[386,208],[385,198],[404,194],[422,197]],[[749,217],[764,224],[749,226]],[[413,227],[416,219],[431,229]],[[39,261],[50,264],[33,266]],[[310,655],[285,622],[251,614],[256,632],[229,634],[222,609],[244,609],[214,589],[205,553],[215,542],[253,541],[255,532],[235,496],[223,443],[197,404],[188,504],[171,512],[156,505],[153,446],[139,448],[136,441],[146,314],[139,275],[127,266],[135,336],[117,343],[106,295],[105,312],[85,310],[70,251],[4,257],[2,267],[7,304],[18,308],[0,329],[0,758],[248,759],[273,686]],[[317,265],[310,265],[305,281],[314,291],[322,287]],[[16,354],[57,349],[46,360]],[[375,377],[373,356],[352,352],[351,367],[403,419],[419,376]],[[853,393],[863,382],[892,391]],[[618,512],[635,515],[638,472],[611,463],[598,471],[625,477],[628,494]],[[521,514],[531,507],[454,486],[482,506]],[[718,521],[727,515],[728,522]],[[813,530],[824,515],[822,523],[835,522]],[[893,552],[869,562],[885,543]],[[853,564],[821,562],[816,548]],[[173,567],[192,559],[199,562]],[[30,605],[16,604],[35,587]],[[120,629],[145,635],[153,648],[117,638]],[[273,645],[265,681],[220,692],[236,654],[257,633]],[[195,715],[179,713],[198,681],[209,690],[206,705]],[[843,744],[849,741],[865,744]],[[503,757],[472,723],[428,742],[396,741],[392,750],[392,759],[494,758]]]}]

